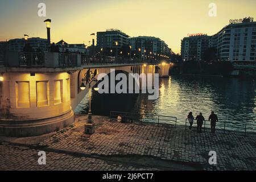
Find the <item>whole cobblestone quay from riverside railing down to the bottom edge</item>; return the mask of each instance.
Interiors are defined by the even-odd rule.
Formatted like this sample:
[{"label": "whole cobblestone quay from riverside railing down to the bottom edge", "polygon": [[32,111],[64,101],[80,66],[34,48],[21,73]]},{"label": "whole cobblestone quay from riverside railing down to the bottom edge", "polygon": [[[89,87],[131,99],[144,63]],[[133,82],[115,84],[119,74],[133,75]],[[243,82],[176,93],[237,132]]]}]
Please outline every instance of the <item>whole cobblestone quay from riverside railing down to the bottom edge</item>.
[{"label": "whole cobblestone quay from riverside railing down to the bottom edge", "polygon": [[[44,147],[49,151],[47,161],[48,158],[52,160],[48,167],[36,166],[36,150],[30,149],[28,152],[16,149],[18,151],[14,152],[20,152],[31,162],[33,159],[36,164],[32,167],[24,164],[24,168],[15,168],[15,164],[11,162],[15,161],[15,158],[11,157],[13,152],[9,152],[12,148],[6,148],[15,146],[2,145],[0,169],[256,169],[255,134],[246,137],[243,133],[234,131],[226,134],[217,131],[216,135],[209,131],[198,134],[193,130],[185,130],[183,126],[175,128],[171,125],[158,127],[152,123],[119,123],[107,117],[94,116],[96,132],[93,135],[85,135],[84,124],[87,117],[77,115],[76,118],[78,122],[73,126],[38,144],[37,147]],[[58,154],[55,151],[58,151]],[[209,165],[209,151],[217,152],[217,165]],[[84,156],[73,155],[76,152]],[[18,153],[16,156],[20,155]],[[17,160],[22,162],[23,159]]]}]

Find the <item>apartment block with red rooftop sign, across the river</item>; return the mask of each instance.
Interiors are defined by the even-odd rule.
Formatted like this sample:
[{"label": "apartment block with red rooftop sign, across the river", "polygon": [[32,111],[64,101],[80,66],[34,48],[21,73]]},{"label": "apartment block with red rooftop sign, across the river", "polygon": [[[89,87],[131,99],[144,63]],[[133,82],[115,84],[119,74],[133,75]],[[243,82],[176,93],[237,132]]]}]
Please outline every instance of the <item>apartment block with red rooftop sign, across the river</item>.
[{"label": "apartment block with red rooftop sign, across the river", "polygon": [[200,61],[204,51],[209,47],[213,47],[212,36],[205,34],[189,35],[181,40],[181,56],[182,59]]}]

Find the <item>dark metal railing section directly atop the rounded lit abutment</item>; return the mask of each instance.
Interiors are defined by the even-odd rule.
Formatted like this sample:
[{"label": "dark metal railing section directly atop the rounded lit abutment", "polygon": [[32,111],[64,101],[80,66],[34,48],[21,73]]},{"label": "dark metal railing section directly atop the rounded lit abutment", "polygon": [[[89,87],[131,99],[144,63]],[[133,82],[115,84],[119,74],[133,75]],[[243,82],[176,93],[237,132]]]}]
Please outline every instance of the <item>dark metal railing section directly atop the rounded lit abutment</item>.
[{"label": "dark metal railing section directly atop the rounded lit abutment", "polygon": [[19,67],[43,67],[44,53],[19,52]]}]

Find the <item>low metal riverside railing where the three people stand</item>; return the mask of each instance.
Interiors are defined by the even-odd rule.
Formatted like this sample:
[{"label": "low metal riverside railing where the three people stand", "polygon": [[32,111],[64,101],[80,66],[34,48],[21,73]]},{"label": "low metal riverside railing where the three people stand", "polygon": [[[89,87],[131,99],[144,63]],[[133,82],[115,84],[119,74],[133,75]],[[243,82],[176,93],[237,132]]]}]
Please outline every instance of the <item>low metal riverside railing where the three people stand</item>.
[{"label": "low metal riverside railing where the three people stand", "polygon": [[[204,131],[205,131],[205,129],[210,128],[210,121],[208,121],[208,122],[209,123],[207,123],[207,121],[204,121],[204,123],[203,123]],[[187,129],[187,123],[189,123],[188,119],[185,119],[185,130]],[[196,123],[196,122],[194,122],[194,123]],[[226,131],[230,131],[230,129],[231,129],[231,131],[232,131],[232,129],[236,129],[234,131],[241,131],[241,132],[245,133],[245,135],[246,135],[246,133],[252,133],[252,131],[248,131],[248,130],[256,130],[255,125],[251,125],[251,124],[247,124],[247,123],[240,123],[237,126],[233,126],[227,122],[216,122],[216,129],[223,130],[224,134],[226,133]]]}]

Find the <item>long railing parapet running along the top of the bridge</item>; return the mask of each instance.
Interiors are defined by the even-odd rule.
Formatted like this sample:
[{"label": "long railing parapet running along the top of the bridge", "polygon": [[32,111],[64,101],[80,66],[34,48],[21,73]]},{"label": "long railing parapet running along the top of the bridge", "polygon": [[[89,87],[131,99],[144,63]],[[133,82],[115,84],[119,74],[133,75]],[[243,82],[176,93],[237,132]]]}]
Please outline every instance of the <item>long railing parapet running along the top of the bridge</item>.
[{"label": "long railing parapet running along the top of the bridge", "polygon": [[[98,64],[159,64],[163,60],[131,59],[127,57],[89,56],[79,53],[8,51],[5,67],[72,68]],[[3,65],[3,61],[1,61]]]}]

